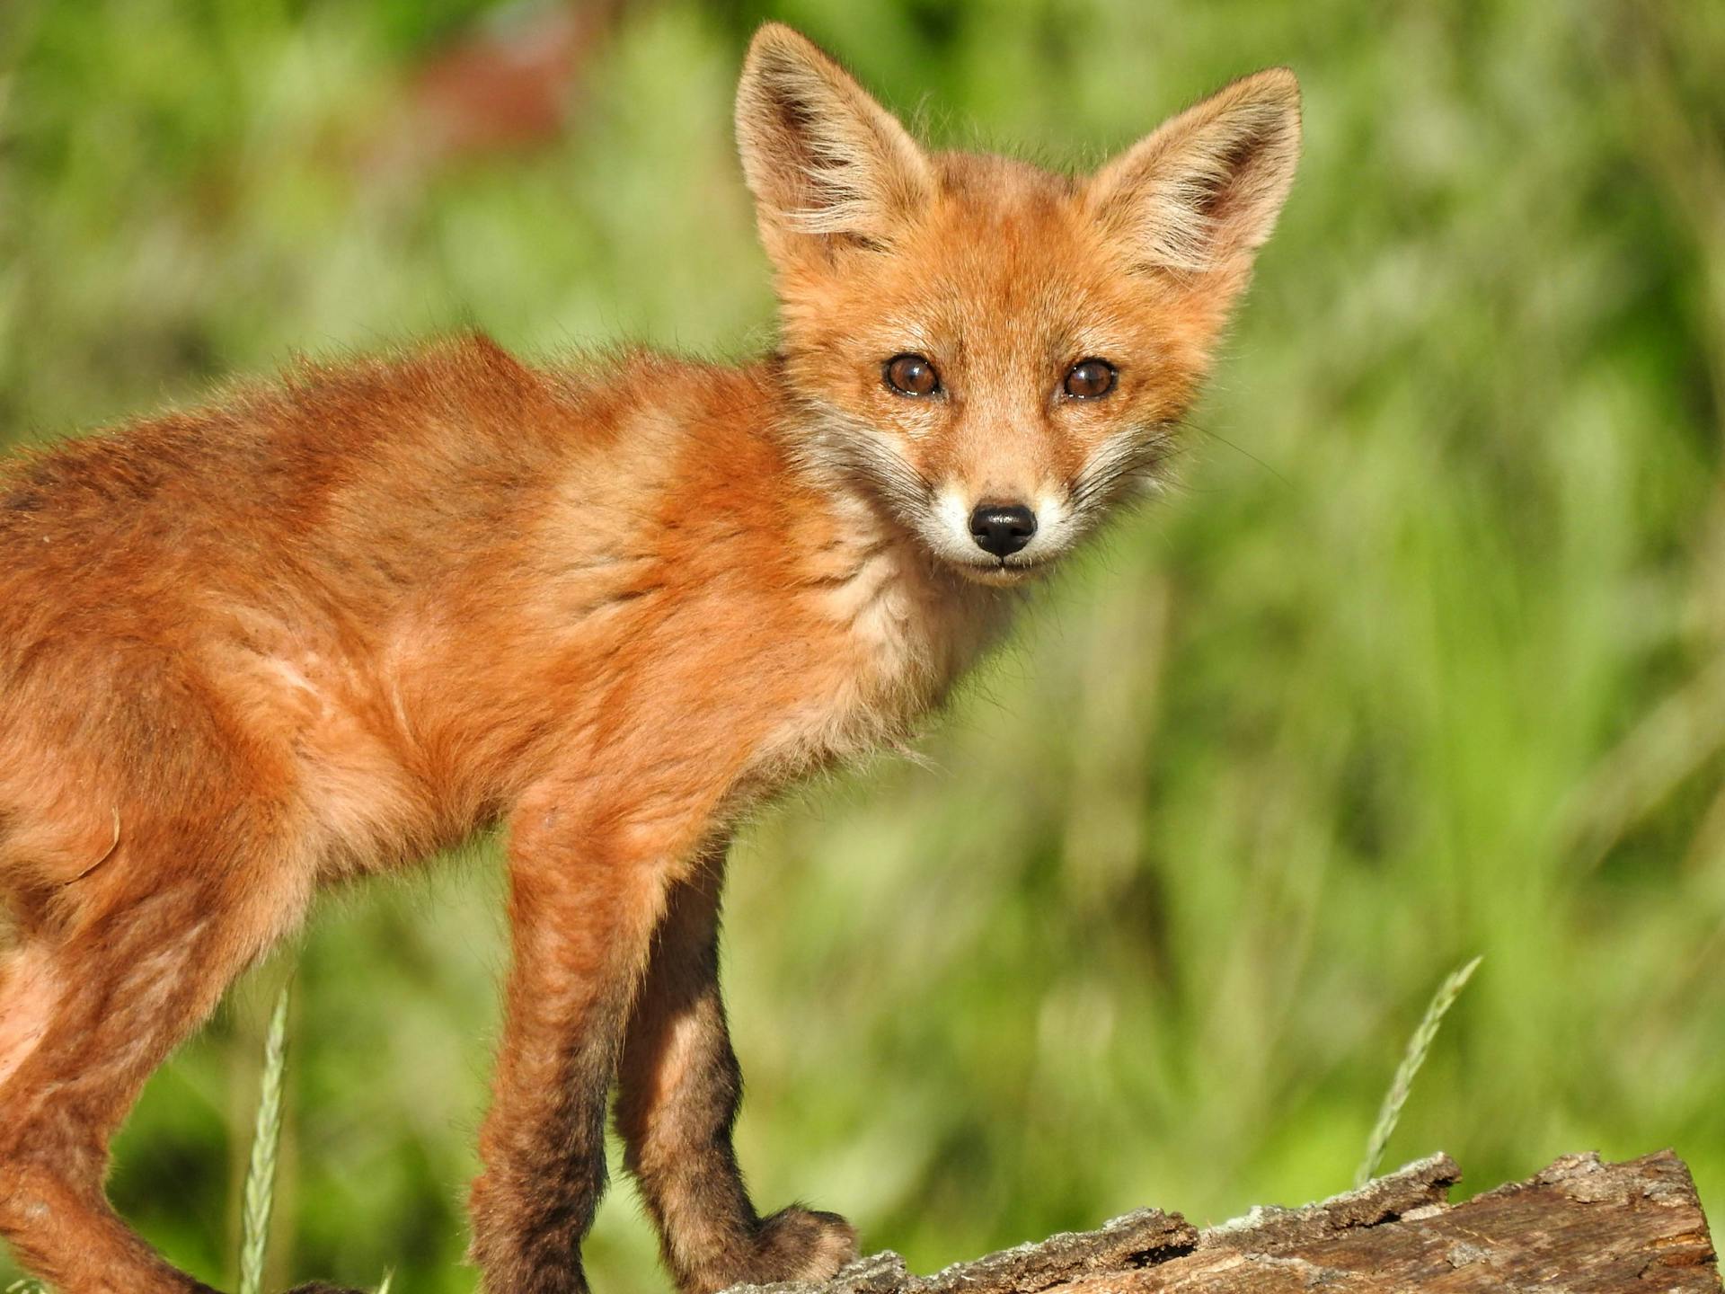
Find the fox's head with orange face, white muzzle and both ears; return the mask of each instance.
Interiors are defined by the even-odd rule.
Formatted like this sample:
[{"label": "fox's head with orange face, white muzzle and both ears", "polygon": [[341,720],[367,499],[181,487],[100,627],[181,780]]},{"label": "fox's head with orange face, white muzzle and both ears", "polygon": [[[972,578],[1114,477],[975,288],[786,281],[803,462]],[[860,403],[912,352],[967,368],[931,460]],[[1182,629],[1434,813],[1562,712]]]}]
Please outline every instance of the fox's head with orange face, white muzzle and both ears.
[{"label": "fox's head with orange face, white muzzle and both ears", "polygon": [[797,450],[961,575],[1013,583],[1157,480],[1294,179],[1299,85],[1247,76],[1073,178],[923,150],[769,22],[737,135]]}]

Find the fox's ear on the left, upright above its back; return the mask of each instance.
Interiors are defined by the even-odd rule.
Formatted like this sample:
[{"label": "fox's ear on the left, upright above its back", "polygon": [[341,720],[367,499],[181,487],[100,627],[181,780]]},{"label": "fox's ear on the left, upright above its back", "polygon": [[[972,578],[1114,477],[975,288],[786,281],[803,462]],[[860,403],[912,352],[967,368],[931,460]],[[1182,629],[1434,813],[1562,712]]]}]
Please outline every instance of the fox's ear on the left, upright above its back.
[{"label": "fox's ear on the left, upright above its back", "polygon": [[737,143],[775,261],[887,247],[933,193],[904,126],[816,45],[764,24],[737,88]]}]

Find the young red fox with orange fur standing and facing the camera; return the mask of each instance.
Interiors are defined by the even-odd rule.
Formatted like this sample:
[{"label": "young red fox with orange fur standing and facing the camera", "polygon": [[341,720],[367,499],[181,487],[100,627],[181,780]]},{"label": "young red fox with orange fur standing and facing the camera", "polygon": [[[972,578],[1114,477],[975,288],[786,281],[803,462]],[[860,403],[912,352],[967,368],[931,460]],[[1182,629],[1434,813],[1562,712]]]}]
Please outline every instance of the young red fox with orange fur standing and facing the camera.
[{"label": "young red fox with orange fur standing and facing the camera", "polygon": [[1075,178],[926,152],[768,24],[737,131],[781,302],[756,362],[471,336],[0,469],[0,1234],[64,1294],[209,1294],[104,1196],[145,1078],[321,885],[495,821],[485,1289],[585,1289],[612,1085],[680,1291],[856,1256],[837,1215],[761,1216],[731,1151],[730,832],[906,738],[1164,476],[1299,88]]}]

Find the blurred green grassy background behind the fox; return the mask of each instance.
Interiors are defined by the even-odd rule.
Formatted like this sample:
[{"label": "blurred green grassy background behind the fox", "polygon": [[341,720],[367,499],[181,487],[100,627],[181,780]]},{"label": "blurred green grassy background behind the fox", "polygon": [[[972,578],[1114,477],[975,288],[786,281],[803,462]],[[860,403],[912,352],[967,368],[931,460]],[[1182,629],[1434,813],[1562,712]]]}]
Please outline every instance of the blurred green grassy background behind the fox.
[{"label": "blurred green grassy background behind the fox", "polygon": [[[730,138],[766,16],[947,145],[1092,166],[1287,62],[1308,150],[1183,487],[1037,599],[926,766],[740,845],[761,1203],[930,1270],[1339,1190],[1480,952],[1390,1159],[1484,1189],[1673,1144],[1725,1220],[1725,5],[7,0],[0,437],[466,324],[769,345]],[[447,53],[486,43],[552,50],[549,124]],[[473,1287],[497,887],[481,847],[319,908],[278,1285]],[[228,1285],[292,961],[117,1154],[119,1206]],[[588,1253],[664,1287],[626,1185]]]}]

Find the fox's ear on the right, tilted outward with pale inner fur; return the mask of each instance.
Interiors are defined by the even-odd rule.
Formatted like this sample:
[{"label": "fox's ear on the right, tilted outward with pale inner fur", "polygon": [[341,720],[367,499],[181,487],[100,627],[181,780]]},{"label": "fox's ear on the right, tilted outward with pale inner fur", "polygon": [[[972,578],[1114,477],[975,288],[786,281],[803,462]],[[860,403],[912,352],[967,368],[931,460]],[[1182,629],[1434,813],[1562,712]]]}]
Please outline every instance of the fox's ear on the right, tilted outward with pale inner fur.
[{"label": "fox's ear on the right, tilted outward with pale inner fur", "polygon": [[1104,166],[1085,198],[1147,269],[1244,269],[1275,228],[1295,162],[1299,81],[1270,67],[1166,121]]}]

